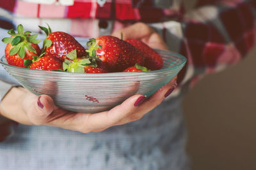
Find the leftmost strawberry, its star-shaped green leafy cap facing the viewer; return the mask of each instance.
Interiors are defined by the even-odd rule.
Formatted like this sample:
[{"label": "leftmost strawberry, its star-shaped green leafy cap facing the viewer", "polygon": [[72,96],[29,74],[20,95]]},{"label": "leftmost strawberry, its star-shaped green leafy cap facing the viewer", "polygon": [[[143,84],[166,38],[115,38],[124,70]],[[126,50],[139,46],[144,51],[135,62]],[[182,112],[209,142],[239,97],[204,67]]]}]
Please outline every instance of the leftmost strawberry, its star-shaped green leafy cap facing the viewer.
[{"label": "leftmost strawberry, its star-shaped green leafy cap facing the viewer", "polygon": [[8,64],[18,67],[27,67],[24,62],[26,60],[32,60],[33,56],[40,54],[40,48],[37,45],[40,43],[39,39],[36,39],[37,34],[31,35],[30,31],[24,32],[23,26],[20,24],[17,27],[17,33],[10,29],[8,34],[10,38],[3,38],[3,43],[6,43],[5,57]]}]

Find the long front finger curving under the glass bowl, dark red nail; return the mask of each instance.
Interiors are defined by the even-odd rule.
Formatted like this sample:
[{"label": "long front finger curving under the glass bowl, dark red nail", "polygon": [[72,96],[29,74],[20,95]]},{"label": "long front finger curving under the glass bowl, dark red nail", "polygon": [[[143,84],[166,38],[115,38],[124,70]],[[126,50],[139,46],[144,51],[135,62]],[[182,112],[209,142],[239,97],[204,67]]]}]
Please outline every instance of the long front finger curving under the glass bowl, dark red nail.
[{"label": "long front finger curving under the glass bowl, dark red nail", "polygon": [[104,130],[118,124],[138,108],[145,96],[134,95],[115,108],[101,113],[73,113],[66,114],[48,122],[47,125],[58,126],[80,132],[94,132]]}]

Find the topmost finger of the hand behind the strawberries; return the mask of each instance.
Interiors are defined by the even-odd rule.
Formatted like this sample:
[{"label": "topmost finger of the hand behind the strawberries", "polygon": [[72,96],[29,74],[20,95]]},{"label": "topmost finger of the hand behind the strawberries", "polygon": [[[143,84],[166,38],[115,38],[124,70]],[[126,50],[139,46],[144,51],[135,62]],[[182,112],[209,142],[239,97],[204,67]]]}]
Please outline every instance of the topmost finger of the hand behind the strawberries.
[{"label": "topmost finger of the hand behind the strawberries", "polygon": [[129,39],[129,38],[142,39],[152,34],[152,32],[154,32],[154,30],[151,27],[149,27],[147,24],[138,22],[136,24],[132,24],[128,27],[115,31],[111,35],[121,38],[121,33],[122,33],[123,39]]}]

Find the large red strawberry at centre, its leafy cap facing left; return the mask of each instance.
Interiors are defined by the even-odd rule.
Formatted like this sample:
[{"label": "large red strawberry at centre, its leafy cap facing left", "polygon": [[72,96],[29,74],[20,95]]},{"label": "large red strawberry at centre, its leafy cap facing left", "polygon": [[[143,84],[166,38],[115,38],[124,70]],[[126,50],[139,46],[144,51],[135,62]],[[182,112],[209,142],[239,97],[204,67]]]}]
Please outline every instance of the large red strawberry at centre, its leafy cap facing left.
[{"label": "large red strawberry at centre, its leafy cap facing left", "polygon": [[99,59],[110,72],[123,71],[138,63],[143,65],[141,53],[131,44],[114,36],[100,36],[90,39],[86,52],[90,57]]}]

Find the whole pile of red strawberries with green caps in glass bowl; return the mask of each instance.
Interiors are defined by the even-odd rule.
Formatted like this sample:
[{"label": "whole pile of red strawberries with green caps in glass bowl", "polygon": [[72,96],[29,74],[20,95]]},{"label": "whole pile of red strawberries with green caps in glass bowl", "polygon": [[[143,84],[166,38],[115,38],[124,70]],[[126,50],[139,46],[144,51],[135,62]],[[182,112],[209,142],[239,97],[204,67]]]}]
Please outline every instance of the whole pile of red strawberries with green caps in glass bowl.
[{"label": "whole pile of red strawberries with green caps in glass bowl", "polygon": [[72,73],[113,73],[161,69],[163,60],[157,52],[138,39],[119,39],[100,36],[89,39],[88,49],[65,32],[52,32],[41,27],[47,37],[42,48],[37,34],[24,31],[20,24],[17,32],[8,31],[5,57],[8,64],[29,69],[68,71]]}]

